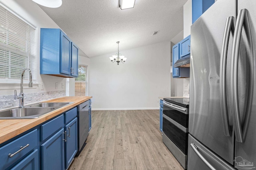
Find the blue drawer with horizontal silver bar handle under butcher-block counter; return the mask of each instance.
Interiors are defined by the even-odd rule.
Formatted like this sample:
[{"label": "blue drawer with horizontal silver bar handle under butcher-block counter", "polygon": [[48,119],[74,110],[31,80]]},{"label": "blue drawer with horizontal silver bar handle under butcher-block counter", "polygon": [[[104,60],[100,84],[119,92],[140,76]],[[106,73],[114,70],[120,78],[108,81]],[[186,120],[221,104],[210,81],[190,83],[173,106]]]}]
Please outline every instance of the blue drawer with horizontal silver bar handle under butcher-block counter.
[{"label": "blue drawer with horizontal silver bar handle under butcher-block counter", "polygon": [[[27,146],[27,147],[25,147]],[[0,170],[8,168],[37,146],[37,129],[0,148]],[[21,147],[25,147],[21,150]],[[17,152],[20,150],[19,152]],[[17,152],[16,154],[14,154]],[[10,154],[14,154],[10,158]]]}]

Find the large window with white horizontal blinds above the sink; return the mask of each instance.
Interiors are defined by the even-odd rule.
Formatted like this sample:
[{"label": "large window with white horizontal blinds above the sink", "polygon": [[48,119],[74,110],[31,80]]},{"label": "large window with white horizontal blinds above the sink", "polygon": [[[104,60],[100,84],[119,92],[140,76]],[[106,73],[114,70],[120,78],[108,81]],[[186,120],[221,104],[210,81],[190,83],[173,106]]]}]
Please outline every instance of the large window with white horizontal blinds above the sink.
[{"label": "large window with white horizontal blinds above the sink", "polygon": [[18,82],[24,68],[36,80],[36,29],[0,4],[0,79]]}]

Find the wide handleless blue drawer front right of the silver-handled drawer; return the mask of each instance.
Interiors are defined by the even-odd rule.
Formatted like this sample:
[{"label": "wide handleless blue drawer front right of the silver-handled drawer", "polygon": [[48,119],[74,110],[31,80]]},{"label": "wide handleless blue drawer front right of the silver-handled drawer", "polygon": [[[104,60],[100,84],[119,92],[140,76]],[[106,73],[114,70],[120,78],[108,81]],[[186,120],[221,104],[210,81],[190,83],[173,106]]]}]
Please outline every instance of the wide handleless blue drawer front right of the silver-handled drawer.
[{"label": "wide handleless blue drawer front right of the silver-handled drawer", "polygon": [[64,115],[60,115],[55,119],[45,123],[41,126],[42,141],[56,133],[61,127],[64,126]]}]

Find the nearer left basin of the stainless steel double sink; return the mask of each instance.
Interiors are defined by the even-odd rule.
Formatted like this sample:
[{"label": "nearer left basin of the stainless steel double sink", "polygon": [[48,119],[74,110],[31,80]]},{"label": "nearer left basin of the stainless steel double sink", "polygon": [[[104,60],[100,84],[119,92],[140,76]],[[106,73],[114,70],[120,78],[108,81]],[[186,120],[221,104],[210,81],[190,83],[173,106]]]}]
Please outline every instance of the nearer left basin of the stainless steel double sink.
[{"label": "nearer left basin of the stainless steel double sink", "polygon": [[27,107],[0,111],[0,119],[32,119],[53,111],[54,107]]}]

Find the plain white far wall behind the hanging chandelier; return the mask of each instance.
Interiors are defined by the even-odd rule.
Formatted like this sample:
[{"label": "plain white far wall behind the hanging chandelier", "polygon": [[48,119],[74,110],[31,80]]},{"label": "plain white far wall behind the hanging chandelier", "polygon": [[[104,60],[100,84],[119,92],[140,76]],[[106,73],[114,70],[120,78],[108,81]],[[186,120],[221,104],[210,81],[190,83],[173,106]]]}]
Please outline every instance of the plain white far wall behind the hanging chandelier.
[{"label": "plain white far wall behind the hanging chandelier", "polygon": [[89,96],[93,109],[159,109],[158,96],[170,96],[170,42],[122,51],[126,62],[111,63],[115,53],[90,59]]}]

